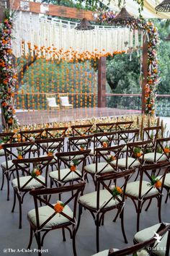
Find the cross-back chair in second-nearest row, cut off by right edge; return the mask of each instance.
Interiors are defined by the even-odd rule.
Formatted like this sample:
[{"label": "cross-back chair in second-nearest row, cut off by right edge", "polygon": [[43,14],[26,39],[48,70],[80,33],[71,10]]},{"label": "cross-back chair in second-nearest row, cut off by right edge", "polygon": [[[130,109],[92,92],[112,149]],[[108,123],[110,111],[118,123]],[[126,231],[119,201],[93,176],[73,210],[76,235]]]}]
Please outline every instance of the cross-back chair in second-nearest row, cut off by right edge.
[{"label": "cross-back chair in second-nearest row, cut off by right edge", "polygon": [[146,163],[158,163],[169,161],[170,158],[170,137],[157,139],[153,152],[144,155]]}]

